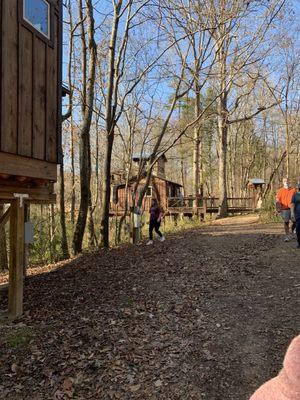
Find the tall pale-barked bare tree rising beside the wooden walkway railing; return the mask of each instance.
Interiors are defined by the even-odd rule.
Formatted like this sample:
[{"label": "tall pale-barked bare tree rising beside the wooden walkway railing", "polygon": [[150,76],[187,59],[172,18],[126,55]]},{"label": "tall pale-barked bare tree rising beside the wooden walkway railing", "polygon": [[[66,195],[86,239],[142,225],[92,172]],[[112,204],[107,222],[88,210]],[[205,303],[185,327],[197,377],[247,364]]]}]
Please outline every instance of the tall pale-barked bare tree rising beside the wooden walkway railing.
[{"label": "tall pale-barked bare tree rising beside the wooden walkway railing", "polygon": [[[272,21],[282,9],[285,1],[272,2],[253,1],[210,1],[204,15],[211,21],[217,21],[217,26],[211,30],[215,41],[217,55],[216,79],[220,93],[218,99],[218,129],[219,129],[219,216],[226,216],[227,206],[227,145],[229,125],[254,118],[260,112],[272,105],[260,105],[256,111],[240,118],[234,114],[240,107],[241,99],[247,98],[259,82],[257,74],[251,75],[253,66],[258,71],[267,58],[268,50],[260,49]],[[259,23],[253,29],[247,28],[247,20],[257,15],[257,7],[261,14]],[[264,11],[265,10],[265,11]],[[247,32],[247,34],[246,34]],[[246,38],[247,35],[247,38]],[[251,90],[248,85],[240,82],[248,76],[252,81]],[[239,88],[238,93],[236,88]],[[238,93],[238,94],[237,94]],[[230,107],[230,103],[233,104]],[[233,116],[233,118],[230,118]]]}]

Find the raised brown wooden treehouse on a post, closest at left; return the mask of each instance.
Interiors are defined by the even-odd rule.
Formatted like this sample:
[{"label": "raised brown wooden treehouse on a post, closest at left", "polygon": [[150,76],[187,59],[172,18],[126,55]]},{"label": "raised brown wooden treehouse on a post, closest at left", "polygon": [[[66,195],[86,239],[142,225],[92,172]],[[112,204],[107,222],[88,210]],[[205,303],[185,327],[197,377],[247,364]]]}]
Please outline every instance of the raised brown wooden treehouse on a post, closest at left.
[{"label": "raised brown wooden treehouse on a post, closest at left", "polygon": [[26,205],[55,202],[61,159],[62,0],[1,0],[0,218],[10,221],[9,313],[23,309]]}]

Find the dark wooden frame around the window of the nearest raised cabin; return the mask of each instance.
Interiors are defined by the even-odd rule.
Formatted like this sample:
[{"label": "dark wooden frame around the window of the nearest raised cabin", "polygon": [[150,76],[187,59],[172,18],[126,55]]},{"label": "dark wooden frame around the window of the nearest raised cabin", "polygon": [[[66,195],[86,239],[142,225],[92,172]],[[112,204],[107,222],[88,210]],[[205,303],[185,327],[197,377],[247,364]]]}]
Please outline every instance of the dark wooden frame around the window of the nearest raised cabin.
[{"label": "dark wooden frame around the window of the nearest raised cabin", "polygon": [[49,5],[48,8],[48,29],[49,29],[49,36],[46,36],[44,33],[42,33],[40,30],[35,28],[32,23],[25,17],[25,1],[26,0],[19,0],[19,20],[22,23],[24,27],[26,27],[28,30],[30,30],[35,36],[37,36],[39,39],[41,39],[43,42],[46,44],[50,45],[51,47],[54,47],[54,7],[53,7],[53,2],[52,0],[42,0],[45,3]]}]

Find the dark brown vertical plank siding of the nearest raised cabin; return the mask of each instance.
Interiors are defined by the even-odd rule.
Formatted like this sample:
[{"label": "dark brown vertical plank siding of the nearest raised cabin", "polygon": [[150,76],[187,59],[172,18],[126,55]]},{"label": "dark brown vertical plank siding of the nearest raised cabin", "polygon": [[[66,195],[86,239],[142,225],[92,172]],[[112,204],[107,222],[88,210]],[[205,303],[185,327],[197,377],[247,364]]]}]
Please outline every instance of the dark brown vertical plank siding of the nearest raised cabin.
[{"label": "dark brown vertical plank siding of the nearest raised cabin", "polygon": [[24,22],[23,0],[1,0],[0,153],[56,164],[61,140],[62,2],[48,1],[50,41]]}]

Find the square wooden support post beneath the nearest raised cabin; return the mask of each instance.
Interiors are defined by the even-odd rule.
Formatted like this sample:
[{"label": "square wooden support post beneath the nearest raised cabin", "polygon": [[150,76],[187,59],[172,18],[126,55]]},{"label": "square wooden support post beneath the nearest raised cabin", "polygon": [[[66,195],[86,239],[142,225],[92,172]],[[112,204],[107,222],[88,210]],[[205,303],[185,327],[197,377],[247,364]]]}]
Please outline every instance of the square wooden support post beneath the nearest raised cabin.
[{"label": "square wooden support post beneath the nearest raised cabin", "polygon": [[8,312],[13,317],[23,313],[24,268],[24,203],[21,199],[11,203],[10,214],[10,266]]}]

